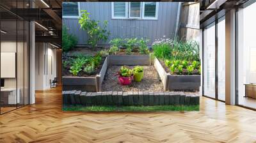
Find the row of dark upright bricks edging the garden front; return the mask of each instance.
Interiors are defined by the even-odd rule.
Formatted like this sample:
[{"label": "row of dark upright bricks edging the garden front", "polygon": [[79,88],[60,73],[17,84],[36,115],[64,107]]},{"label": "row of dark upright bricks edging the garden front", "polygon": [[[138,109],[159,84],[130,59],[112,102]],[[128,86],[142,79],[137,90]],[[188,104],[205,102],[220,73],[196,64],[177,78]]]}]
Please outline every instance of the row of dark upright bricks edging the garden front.
[{"label": "row of dark upright bricks edging the garden front", "polygon": [[199,105],[199,96],[172,92],[108,91],[87,93],[81,91],[62,91],[63,105]]}]

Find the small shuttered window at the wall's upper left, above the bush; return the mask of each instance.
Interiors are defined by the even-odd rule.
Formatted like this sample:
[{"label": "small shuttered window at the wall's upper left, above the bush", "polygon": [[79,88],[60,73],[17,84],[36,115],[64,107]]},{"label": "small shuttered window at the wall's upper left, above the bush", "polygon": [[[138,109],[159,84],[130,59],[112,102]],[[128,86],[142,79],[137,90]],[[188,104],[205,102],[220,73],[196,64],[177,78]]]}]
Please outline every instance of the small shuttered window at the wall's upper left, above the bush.
[{"label": "small shuttered window at the wall's upper left, above the bush", "polygon": [[64,18],[78,18],[80,15],[80,5],[78,2],[62,3],[62,15]]}]

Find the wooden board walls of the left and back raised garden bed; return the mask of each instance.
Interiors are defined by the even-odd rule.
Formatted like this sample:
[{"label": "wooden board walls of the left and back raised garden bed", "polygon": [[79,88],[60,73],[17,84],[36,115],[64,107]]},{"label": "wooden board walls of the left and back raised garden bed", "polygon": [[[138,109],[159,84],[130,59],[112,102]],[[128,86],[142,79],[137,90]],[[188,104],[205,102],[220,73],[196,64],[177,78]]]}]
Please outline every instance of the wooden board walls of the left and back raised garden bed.
[{"label": "wooden board walls of the left and back raised garden bed", "polygon": [[63,91],[102,91],[102,82],[108,66],[113,65],[150,65],[150,55],[109,55],[106,57],[99,75],[95,75],[95,77],[62,77]]}]

